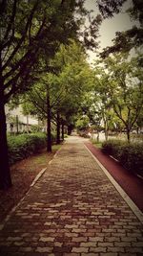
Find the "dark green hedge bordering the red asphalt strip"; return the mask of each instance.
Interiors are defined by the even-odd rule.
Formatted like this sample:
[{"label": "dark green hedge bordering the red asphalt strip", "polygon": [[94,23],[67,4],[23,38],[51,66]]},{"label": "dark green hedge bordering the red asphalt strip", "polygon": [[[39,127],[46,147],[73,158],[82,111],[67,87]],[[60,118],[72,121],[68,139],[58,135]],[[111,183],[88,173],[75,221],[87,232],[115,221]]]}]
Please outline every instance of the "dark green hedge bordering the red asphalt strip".
[{"label": "dark green hedge bordering the red asphalt strip", "polygon": [[130,172],[143,176],[143,142],[109,140],[102,143],[102,151],[111,154]]}]

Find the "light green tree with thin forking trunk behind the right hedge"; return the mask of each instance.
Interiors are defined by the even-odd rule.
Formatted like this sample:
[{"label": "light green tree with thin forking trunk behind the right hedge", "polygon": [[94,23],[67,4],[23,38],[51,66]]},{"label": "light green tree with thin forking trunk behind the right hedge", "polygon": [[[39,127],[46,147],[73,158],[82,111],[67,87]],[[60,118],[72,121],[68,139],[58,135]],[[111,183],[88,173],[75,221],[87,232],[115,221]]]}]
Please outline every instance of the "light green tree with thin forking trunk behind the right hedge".
[{"label": "light green tree with thin forking trunk behind the right hedge", "polygon": [[143,77],[138,66],[138,58],[130,59],[127,54],[120,53],[106,58],[104,63],[110,74],[106,90],[110,94],[116,116],[126,128],[130,142],[131,130],[139,118],[143,105]]}]

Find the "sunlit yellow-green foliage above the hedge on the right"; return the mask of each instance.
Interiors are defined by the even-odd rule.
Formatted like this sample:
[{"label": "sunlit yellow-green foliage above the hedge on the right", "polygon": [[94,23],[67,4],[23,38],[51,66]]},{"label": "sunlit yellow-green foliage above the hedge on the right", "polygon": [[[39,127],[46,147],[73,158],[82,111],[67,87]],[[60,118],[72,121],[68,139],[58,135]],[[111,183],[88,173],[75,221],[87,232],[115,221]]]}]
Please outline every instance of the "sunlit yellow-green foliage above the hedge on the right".
[{"label": "sunlit yellow-green foliage above the hedge on the right", "polygon": [[121,127],[122,123],[128,141],[132,128],[139,121],[143,105],[143,76],[138,65],[139,57],[129,58],[127,53],[118,53],[97,62],[103,68],[95,67],[96,91],[99,93],[100,108],[103,108],[103,120],[108,121],[108,126],[112,120],[115,128]]}]

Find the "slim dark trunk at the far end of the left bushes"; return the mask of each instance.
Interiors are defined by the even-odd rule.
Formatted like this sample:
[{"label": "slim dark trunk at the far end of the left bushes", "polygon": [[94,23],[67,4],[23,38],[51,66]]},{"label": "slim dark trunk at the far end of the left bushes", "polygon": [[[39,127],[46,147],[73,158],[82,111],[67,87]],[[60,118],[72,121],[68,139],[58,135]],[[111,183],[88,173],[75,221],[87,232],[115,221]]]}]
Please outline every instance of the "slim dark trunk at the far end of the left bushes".
[{"label": "slim dark trunk at the far end of the left bushes", "polygon": [[51,152],[51,104],[49,90],[47,92],[47,151]]}]

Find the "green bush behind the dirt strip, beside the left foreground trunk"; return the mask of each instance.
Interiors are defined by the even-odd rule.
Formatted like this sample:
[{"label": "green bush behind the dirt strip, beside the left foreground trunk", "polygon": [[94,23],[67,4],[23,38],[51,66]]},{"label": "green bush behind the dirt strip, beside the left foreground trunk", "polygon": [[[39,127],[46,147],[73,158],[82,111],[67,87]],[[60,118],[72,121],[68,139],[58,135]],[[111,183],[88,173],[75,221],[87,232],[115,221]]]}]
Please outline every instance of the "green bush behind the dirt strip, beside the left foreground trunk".
[{"label": "green bush behind the dirt strip, beside the left foreground trunk", "polygon": [[10,165],[46,147],[46,134],[21,134],[8,136]]}]

